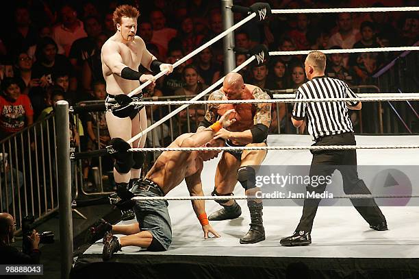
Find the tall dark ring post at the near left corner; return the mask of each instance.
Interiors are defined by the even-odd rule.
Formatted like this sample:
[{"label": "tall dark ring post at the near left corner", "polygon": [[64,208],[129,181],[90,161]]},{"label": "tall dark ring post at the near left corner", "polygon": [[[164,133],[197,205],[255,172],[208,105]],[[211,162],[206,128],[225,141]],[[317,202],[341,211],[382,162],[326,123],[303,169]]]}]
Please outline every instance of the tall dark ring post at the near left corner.
[{"label": "tall dark ring post at the near left corner", "polygon": [[71,217],[71,171],[68,102],[58,101],[55,110],[57,131],[58,206],[60,213],[61,278],[70,278],[73,265],[73,219]]}]

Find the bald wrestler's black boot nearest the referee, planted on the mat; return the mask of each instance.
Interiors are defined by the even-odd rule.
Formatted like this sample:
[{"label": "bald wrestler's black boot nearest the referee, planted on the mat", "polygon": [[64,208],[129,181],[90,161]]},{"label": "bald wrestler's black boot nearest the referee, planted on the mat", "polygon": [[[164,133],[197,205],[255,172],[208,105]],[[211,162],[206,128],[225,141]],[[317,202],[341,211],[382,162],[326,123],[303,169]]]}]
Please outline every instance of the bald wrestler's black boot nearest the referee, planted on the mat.
[{"label": "bald wrestler's black boot nearest the referee, planted on the mat", "polygon": [[262,209],[264,208],[262,202],[257,203],[253,200],[247,201],[249,211],[251,213],[251,228],[241,239],[241,244],[257,243],[265,240],[265,228],[262,220]]}]

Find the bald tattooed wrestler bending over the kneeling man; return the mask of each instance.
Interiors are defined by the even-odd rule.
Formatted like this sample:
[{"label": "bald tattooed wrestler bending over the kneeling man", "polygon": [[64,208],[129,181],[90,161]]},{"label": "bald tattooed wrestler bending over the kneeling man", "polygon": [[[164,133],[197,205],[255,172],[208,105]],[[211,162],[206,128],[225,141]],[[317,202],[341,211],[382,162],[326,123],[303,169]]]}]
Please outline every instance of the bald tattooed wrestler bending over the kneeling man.
[{"label": "bald tattooed wrestler bending over the kneeling man", "polygon": [[[244,84],[238,73],[225,76],[223,87],[214,91],[208,100],[222,99],[270,99],[261,88]],[[270,125],[270,104],[214,104],[208,106],[204,121],[198,130],[212,125],[228,109],[236,110],[236,123],[221,129],[215,138],[224,138],[229,146],[266,146],[266,137]],[[266,150],[260,151],[225,151],[216,169],[215,187],[212,195],[233,195],[237,182],[242,184],[246,195],[255,195],[255,166],[262,164]],[[220,221],[234,219],[242,210],[233,199],[216,201],[223,206],[212,213],[208,219]],[[240,243],[257,243],[265,239],[262,221],[262,200],[249,199],[247,202],[251,214],[250,230],[240,239]]]}]

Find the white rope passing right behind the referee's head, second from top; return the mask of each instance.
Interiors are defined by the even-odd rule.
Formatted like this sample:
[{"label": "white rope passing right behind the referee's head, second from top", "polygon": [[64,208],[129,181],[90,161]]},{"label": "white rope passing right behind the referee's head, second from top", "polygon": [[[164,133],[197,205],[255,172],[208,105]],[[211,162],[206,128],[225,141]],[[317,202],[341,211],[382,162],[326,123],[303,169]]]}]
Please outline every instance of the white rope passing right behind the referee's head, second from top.
[{"label": "white rope passing right behind the referee's head, second from top", "polygon": [[[365,49],[319,49],[322,53],[364,53],[364,52],[388,52],[388,51],[417,51],[419,47],[368,47]],[[299,51],[269,51],[270,56],[300,56],[307,55],[314,50]]]}]

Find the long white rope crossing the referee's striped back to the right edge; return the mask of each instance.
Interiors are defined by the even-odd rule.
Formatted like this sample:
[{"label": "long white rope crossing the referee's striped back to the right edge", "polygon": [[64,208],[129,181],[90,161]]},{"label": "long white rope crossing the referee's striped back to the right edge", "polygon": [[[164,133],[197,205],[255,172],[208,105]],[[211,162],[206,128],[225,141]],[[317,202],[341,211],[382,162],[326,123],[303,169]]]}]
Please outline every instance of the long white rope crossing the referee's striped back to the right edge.
[{"label": "long white rope crossing the referee's striped back to the right edge", "polygon": [[[378,95],[378,94],[377,94]],[[153,105],[198,105],[198,104],[275,104],[275,103],[322,103],[329,101],[419,101],[419,95],[363,98],[325,98],[325,99],[244,99],[244,100],[210,100],[210,101],[133,101],[132,104]]]}]

